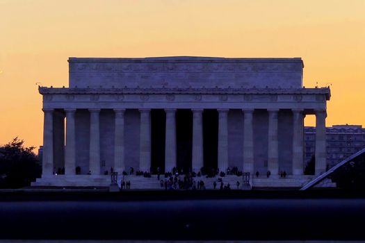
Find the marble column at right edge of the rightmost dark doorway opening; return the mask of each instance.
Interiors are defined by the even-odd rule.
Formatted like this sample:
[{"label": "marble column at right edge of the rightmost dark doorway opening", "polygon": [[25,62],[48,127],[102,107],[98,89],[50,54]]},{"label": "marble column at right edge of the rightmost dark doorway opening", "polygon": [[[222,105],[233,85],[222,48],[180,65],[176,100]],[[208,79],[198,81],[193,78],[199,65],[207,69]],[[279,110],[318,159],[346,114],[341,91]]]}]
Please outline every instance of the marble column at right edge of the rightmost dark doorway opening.
[{"label": "marble column at right edge of the rightmost dark doorway opening", "polygon": [[218,168],[225,173],[228,168],[228,111],[218,110]]}]

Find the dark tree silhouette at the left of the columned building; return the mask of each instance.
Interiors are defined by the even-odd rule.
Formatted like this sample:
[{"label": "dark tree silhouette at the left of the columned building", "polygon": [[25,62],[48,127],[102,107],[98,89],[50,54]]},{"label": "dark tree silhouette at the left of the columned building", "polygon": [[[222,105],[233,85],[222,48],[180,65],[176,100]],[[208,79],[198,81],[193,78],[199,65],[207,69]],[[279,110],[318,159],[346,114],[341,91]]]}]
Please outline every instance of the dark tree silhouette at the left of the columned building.
[{"label": "dark tree silhouette at the left of the columned building", "polygon": [[42,169],[33,149],[33,146],[24,146],[24,140],[18,137],[0,147],[0,187],[29,186],[40,177]]}]

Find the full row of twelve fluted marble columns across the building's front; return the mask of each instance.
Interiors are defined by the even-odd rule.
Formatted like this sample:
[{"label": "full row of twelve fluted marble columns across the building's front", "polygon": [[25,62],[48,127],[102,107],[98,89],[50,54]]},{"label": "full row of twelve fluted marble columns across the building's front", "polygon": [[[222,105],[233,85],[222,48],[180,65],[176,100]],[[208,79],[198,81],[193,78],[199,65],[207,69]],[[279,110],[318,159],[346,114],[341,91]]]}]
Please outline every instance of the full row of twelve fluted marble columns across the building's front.
[{"label": "full row of twelve fluted marble columns across the building's front", "polygon": [[[51,176],[54,168],[53,146],[53,109],[44,111],[43,136],[43,172],[42,177]],[[149,171],[151,167],[151,115],[150,109],[140,109],[140,170]],[[177,166],[176,109],[165,109],[165,170],[171,171]],[[203,167],[203,109],[192,109],[193,112],[193,148],[192,170],[197,172]],[[65,144],[65,175],[74,175],[76,166],[76,109],[65,109],[66,144]],[[100,174],[100,109],[89,109],[90,112],[90,172]],[[125,109],[114,109],[115,141],[114,169],[122,173],[124,162],[124,112]],[[228,112],[229,109],[218,109],[218,168],[226,171],[228,161]],[[272,175],[279,174],[278,148],[278,109],[268,109],[268,171]],[[303,174],[303,110],[293,109],[293,175]],[[243,109],[243,172],[254,174],[254,109]],[[326,168],[325,146],[325,110],[315,110],[316,114],[316,174],[321,174]]]}]

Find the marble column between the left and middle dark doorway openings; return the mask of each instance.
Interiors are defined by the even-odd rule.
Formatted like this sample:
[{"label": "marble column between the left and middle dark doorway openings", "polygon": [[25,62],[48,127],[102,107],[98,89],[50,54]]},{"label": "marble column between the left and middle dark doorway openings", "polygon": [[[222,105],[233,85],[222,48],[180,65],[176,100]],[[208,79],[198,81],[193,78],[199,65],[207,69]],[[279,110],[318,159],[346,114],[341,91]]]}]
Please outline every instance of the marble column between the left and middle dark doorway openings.
[{"label": "marble column between the left and middle dark doorway openings", "polygon": [[165,171],[172,171],[177,167],[176,162],[176,109],[165,109]]}]

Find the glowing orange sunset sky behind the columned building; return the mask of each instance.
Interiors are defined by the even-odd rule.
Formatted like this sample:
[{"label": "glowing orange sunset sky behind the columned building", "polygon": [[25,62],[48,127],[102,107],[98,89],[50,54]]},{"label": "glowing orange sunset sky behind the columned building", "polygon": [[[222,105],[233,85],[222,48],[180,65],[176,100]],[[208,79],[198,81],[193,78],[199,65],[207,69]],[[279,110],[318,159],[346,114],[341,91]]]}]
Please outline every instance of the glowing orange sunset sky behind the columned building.
[{"label": "glowing orange sunset sky behind the columned building", "polygon": [[0,144],[42,144],[35,83],[67,86],[70,56],[302,57],[327,126],[365,125],[364,0],[0,0]]}]

